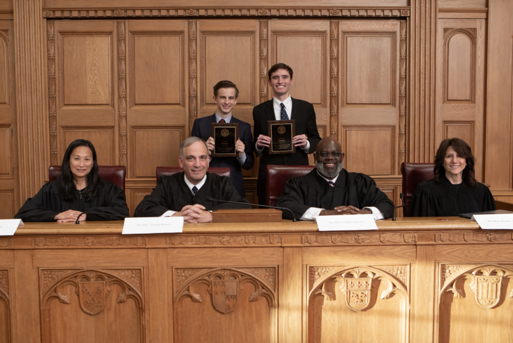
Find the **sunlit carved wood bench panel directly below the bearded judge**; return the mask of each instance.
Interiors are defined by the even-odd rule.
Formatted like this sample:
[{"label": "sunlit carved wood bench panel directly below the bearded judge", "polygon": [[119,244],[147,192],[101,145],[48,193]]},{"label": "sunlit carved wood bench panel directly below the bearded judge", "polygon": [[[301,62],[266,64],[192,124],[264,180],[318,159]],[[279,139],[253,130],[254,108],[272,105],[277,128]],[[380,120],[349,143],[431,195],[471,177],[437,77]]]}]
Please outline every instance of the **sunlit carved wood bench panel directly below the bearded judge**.
[{"label": "sunlit carved wood bench panel directly below the bearded judge", "polygon": [[408,341],[409,278],[409,265],[308,266],[308,342]]}]

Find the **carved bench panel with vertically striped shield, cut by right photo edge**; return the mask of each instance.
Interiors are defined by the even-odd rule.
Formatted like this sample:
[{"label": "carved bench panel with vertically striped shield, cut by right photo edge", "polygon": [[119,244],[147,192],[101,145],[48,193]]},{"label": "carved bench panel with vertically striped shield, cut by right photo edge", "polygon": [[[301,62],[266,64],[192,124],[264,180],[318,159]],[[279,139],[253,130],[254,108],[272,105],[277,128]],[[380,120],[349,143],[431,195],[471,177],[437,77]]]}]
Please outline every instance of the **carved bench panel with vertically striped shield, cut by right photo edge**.
[{"label": "carved bench panel with vertically striped shield, cut by right photo edge", "polygon": [[513,333],[513,265],[441,264],[441,342],[507,341]]}]

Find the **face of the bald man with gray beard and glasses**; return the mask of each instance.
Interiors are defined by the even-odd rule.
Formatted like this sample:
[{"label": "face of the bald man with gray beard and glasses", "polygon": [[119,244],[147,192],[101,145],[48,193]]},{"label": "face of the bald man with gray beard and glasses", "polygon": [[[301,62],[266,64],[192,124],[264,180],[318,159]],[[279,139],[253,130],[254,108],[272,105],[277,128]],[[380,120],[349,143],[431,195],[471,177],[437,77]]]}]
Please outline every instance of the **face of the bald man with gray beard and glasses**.
[{"label": "face of the bald man with gray beard and glasses", "polygon": [[[337,155],[337,153],[341,152],[342,146],[335,139],[326,137],[317,144],[316,150],[317,151],[314,153],[314,161],[317,171],[326,179],[332,180],[340,174],[344,166],[343,153],[340,157],[333,156],[333,154]],[[325,155],[326,153],[328,154],[326,157],[321,157],[321,155]]]}]

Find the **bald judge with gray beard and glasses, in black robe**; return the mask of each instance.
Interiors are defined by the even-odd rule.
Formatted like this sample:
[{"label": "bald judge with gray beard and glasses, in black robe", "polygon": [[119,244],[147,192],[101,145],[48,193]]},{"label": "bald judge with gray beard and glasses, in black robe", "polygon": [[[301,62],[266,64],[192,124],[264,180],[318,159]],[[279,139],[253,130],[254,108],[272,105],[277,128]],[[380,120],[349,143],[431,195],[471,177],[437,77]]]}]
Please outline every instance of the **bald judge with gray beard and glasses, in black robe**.
[{"label": "bald judge with gray beard and glasses, in black robe", "polygon": [[[371,177],[343,168],[344,153],[337,140],[326,137],[317,144],[315,169],[285,183],[276,206],[286,207],[301,220],[317,216],[367,215],[375,220],[392,217],[393,202]],[[292,219],[290,212],[283,218]]]}]

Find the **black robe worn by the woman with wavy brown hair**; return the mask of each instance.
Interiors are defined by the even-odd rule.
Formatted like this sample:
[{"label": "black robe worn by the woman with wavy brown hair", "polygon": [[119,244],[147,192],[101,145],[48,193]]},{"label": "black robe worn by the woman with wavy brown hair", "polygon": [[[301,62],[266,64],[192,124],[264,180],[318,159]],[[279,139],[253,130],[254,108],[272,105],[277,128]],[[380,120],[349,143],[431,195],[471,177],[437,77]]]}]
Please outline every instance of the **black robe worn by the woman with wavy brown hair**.
[{"label": "black robe worn by the woman with wavy brown hair", "polygon": [[457,217],[460,213],[497,209],[490,190],[482,183],[476,187],[453,185],[445,174],[440,181],[419,183],[408,205],[408,217]]}]

